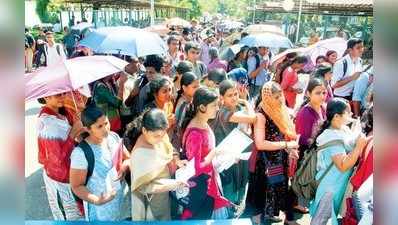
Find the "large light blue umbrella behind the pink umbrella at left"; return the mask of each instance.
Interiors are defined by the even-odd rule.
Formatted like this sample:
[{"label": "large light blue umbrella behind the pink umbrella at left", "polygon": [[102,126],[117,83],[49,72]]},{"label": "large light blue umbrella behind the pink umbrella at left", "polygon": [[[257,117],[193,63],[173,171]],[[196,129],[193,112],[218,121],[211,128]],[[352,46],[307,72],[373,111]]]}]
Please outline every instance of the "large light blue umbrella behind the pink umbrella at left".
[{"label": "large light blue umbrella behind the pink umbrella at left", "polygon": [[133,27],[101,27],[80,42],[95,53],[146,56],[164,54],[166,44],[158,34]]}]

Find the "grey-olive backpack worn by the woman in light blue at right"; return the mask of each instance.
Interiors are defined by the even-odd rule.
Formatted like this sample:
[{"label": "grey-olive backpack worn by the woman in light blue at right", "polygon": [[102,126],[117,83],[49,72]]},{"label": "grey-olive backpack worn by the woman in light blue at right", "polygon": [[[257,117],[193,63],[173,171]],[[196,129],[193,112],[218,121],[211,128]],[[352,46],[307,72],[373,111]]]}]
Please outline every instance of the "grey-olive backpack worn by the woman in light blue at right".
[{"label": "grey-olive backpack worn by the woman in light blue at right", "polygon": [[318,185],[333,166],[332,162],[319,180],[316,180],[318,152],[322,149],[338,145],[344,146],[344,142],[342,140],[333,140],[316,148],[310,148],[304,153],[303,160],[292,179],[292,189],[298,197],[306,200],[313,200],[315,198]]}]

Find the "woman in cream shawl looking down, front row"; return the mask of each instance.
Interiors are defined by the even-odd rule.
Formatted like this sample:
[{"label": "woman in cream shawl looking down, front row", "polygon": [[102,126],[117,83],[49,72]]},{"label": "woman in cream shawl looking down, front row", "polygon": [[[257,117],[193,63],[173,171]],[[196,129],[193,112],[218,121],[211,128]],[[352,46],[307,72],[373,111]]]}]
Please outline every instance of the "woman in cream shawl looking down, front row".
[{"label": "woman in cream shawl looking down, front row", "polygon": [[133,221],[170,220],[169,191],[184,185],[163,182],[176,169],[167,127],[159,109],[144,112],[127,127],[126,137],[135,143],[130,158]]}]

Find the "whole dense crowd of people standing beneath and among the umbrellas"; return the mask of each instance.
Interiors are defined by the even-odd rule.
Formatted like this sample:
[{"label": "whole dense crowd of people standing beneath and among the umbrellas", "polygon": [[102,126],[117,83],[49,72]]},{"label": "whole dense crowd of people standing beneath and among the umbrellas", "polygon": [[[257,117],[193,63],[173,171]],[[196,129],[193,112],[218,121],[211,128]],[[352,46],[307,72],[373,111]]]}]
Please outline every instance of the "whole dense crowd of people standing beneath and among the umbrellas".
[{"label": "whole dense crowd of people standing beneath and among the umbrellas", "polygon": [[[294,213],[310,213],[312,225],[337,225],[338,217],[372,224],[374,75],[363,65],[363,42],[348,40],[340,58],[333,50],[319,56],[301,87],[308,57],[289,53],[272,65],[272,46],[243,46],[227,62],[223,36],[198,26],[170,30],[165,55],[123,56],[128,65],[90,84],[91,97],[39,99],[38,159],[54,219],[261,224],[282,222],[282,211],[284,224],[298,224]],[[52,32],[40,35],[46,65],[93,54],[81,46],[65,54]],[[216,146],[235,128],[252,138],[251,156],[219,173]],[[303,197],[291,185],[309,151],[317,151],[319,185]],[[191,160],[194,176],[170,182]],[[188,197],[178,198],[185,189]]]}]

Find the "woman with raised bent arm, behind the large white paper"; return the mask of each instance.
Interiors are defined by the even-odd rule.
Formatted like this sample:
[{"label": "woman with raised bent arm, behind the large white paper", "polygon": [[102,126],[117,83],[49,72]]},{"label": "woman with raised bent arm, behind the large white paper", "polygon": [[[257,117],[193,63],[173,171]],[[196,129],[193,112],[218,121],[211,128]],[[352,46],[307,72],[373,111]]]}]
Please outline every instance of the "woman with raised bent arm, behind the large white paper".
[{"label": "woman with raised bent arm, behind the large white paper", "polygon": [[[239,98],[238,86],[234,81],[224,80],[220,83],[222,105],[212,121],[216,145],[220,144],[239,124],[251,125],[256,121],[256,114],[248,101]],[[244,200],[248,180],[247,161],[234,164],[221,176],[224,196],[240,205]]]}]

